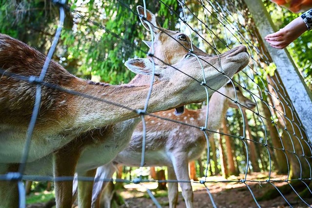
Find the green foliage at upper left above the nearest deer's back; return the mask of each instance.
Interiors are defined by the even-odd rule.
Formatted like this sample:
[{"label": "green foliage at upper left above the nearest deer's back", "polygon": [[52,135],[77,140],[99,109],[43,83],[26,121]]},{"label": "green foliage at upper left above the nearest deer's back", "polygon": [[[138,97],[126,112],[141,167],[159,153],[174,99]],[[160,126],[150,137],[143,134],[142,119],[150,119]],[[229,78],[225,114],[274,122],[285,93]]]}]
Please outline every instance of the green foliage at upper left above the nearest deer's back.
[{"label": "green foliage at upper left above the nearest deer's back", "polygon": [[[135,74],[126,69],[124,62],[129,58],[145,57],[149,50],[142,40],[149,40],[150,36],[136,11],[140,3],[132,0],[93,0],[87,3],[69,0],[68,3],[71,7],[66,10],[54,59],[79,77],[98,76],[101,81],[112,84],[129,82]],[[172,5],[175,10],[177,2]],[[160,15],[168,15],[163,4],[158,7]],[[21,0],[17,4],[4,1],[0,6],[0,32],[19,38],[46,54],[58,16],[58,8],[50,1]],[[159,20],[162,23],[162,19]],[[174,28],[176,17],[166,19],[165,25]]]}]

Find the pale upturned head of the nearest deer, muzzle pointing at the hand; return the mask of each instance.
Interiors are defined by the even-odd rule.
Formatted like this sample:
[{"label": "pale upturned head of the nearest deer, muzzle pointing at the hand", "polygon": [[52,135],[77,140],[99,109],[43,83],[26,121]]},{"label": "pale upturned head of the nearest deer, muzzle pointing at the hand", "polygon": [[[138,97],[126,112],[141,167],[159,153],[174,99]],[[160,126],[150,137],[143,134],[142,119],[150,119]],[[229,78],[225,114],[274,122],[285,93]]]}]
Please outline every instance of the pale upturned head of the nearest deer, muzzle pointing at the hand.
[{"label": "pale upturned head of the nearest deer, muzzle pointing at the hand", "polygon": [[[207,85],[217,90],[228,81],[226,76],[232,77],[236,72],[242,70],[249,62],[249,55],[245,46],[238,46],[219,56],[212,57],[208,55],[198,56],[198,58],[201,64],[198,63],[196,57],[187,54],[172,66],[156,65],[155,75],[158,76],[159,81],[170,81],[173,84],[173,88],[178,87],[183,89],[183,95],[185,97],[192,98],[195,102],[202,102],[205,99],[205,92],[204,90],[199,89],[199,83],[204,81],[204,77],[201,73],[201,66],[205,72]],[[219,58],[226,76],[218,70],[220,69]],[[153,64],[148,58],[131,59],[126,61],[125,65],[131,71],[141,75],[151,75],[153,71]],[[185,75],[181,75],[181,72]],[[166,91],[166,89],[163,90]],[[179,90],[176,89],[176,92],[179,92]],[[208,89],[208,92],[210,95],[214,93],[211,89]]]}]

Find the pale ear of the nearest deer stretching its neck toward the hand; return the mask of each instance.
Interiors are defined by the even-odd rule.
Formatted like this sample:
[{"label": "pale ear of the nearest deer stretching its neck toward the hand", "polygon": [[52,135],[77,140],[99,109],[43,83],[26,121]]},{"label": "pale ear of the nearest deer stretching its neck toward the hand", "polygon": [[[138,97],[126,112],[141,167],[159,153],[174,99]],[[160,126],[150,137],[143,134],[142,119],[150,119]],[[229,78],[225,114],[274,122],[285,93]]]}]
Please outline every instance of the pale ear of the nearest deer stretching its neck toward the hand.
[{"label": "pale ear of the nearest deer stretching its neck toward the hand", "polygon": [[[152,75],[153,63],[148,58],[133,58],[125,62],[125,66],[138,75]],[[155,75],[159,76],[166,66],[155,64]]]}]

